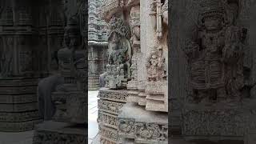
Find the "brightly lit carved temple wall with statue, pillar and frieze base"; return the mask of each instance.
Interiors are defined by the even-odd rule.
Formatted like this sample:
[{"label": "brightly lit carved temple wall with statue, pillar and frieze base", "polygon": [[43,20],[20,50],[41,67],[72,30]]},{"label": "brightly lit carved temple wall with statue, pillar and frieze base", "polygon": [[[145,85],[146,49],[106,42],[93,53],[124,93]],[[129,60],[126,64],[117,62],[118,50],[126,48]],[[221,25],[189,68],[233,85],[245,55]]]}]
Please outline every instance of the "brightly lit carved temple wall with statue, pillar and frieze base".
[{"label": "brightly lit carved temple wall with statue, pillar and frieze base", "polygon": [[[108,89],[101,89],[98,96],[98,123],[102,143],[167,143],[168,50],[167,25],[164,21],[166,17],[162,16],[166,16],[167,3],[168,1],[151,3],[139,0],[111,0],[102,4],[101,16],[108,23],[110,30],[109,61],[105,78],[105,87]],[[122,106],[126,107],[122,113],[130,112],[126,116],[132,118],[134,125],[126,116],[120,115]],[[134,111],[131,112],[130,109]],[[138,110],[142,119],[136,117]],[[147,119],[159,115],[164,118],[159,120],[159,123],[155,119],[155,125]],[[121,124],[118,118],[130,122],[131,126],[128,127],[133,127],[133,130],[135,125],[138,126],[135,126],[138,131],[133,131],[130,135],[124,134],[127,132],[124,130],[126,123]],[[146,140],[143,134],[147,134],[147,127],[151,129],[152,126],[156,129],[159,126],[162,131],[153,130],[154,136],[151,137],[150,133],[150,138]]]}]

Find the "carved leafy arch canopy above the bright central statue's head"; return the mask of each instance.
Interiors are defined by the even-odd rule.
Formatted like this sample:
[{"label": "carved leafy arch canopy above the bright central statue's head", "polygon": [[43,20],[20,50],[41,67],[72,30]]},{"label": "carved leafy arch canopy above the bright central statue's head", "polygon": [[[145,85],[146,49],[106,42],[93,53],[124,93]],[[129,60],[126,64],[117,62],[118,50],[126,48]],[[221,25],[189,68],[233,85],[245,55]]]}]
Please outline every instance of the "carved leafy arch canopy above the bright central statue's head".
[{"label": "carved leafy arch canopy above the bright central statue's head", "polygon": [[114,33],[120,35],[123,38],[128,38],[130,34],[129,27],[126,26],[125,22],[121,18],[116,18],[116,17],[111,18],[108,24],[108,27],[110,30],[108,38],[110,38],[111,35]]}]

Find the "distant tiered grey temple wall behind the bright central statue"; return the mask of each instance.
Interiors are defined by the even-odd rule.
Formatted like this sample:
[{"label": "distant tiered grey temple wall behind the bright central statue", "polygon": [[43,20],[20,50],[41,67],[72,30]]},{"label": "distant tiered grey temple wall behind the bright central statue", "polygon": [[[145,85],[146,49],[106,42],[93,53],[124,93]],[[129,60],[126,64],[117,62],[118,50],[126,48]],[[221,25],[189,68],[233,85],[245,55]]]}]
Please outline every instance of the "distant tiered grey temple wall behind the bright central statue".
[{"label": "distant tiered grey temple wall behind the bright central statue", "polygon": [[106,22],[99,18],[98,9],[102,0],[89,1],[88,21],[88,88],[98,90],[99,76],[106,71],[107,64],[107,26]]}]

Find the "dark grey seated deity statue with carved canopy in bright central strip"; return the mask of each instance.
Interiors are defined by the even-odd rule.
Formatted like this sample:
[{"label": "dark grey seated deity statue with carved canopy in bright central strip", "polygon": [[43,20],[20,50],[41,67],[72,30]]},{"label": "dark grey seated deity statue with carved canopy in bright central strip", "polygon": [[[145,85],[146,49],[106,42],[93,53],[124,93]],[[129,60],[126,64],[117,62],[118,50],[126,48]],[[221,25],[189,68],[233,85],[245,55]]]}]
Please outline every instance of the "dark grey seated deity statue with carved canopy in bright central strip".
[{"label": "dark grey seated deity statue with carved canopy in bright central strip", "polygon": [[110,51],[106,66],[106,87],[120,89],[130,80],[131,47],[128,40],[129,27],[121,18],[112,18],[109,23]]}]

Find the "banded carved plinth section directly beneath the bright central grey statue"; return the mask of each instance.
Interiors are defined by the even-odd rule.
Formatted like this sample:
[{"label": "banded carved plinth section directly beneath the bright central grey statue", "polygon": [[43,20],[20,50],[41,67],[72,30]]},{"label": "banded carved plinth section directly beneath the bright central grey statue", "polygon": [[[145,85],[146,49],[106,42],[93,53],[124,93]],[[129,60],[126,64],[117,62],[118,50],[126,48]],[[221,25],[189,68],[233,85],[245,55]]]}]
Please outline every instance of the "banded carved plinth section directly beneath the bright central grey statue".
[{"label": "banded carved plinth section directly beneath the bright central grey statue", "polygon": [[127,90],[99,90],[98,125],[100,142],[103,144],[117,143],[118,113],[126,102]]}]

